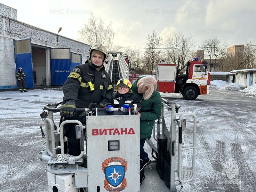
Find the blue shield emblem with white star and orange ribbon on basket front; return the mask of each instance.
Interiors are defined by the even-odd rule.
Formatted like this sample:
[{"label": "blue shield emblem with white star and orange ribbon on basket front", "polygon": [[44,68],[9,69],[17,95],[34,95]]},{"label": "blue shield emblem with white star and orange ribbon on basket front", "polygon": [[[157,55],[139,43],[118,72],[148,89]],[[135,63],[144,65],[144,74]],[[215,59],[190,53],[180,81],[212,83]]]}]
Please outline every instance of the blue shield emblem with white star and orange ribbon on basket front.
[{"label": "blue shield emblem with white star and orange ribbon on basket front", "polygon": [[104,188],[107,191],[122,191],[127,186],[124,177],[127,170],[127,162],[120,157],[111,157],[102,163],[102,171],[105,173]]}]

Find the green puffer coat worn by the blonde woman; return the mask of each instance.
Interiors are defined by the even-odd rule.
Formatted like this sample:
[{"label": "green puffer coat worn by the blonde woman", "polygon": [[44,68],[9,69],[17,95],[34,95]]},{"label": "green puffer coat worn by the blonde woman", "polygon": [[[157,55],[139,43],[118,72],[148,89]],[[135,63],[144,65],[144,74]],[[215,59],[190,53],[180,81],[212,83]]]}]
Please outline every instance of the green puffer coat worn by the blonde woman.
[{"label": "green puffer coat worn by the blonde woman", "polygon": [[132,92],[137,95],[139,100],[141,100],[141,117],[140,117],[140,139],[149,139],[152,134],[152,129],[155,124],[155,120],[161,116],[161,95],[158,92],[158,84],[156,91],[153,92],[152,96],[148,100],[143,100],[143,94],[138,93],[138,88],[136,86],[139,79],[138,78],[132,84]]}]

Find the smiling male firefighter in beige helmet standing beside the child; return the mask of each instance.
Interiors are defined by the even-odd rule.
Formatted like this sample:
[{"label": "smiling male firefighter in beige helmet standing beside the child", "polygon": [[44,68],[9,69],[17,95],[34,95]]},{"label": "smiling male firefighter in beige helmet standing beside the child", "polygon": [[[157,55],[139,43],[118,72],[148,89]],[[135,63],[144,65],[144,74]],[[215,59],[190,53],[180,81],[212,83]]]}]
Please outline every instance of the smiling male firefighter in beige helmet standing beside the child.
[{"label": "smiling male firefighter in beige helmet standing beside the child", "polygon": [[[80,116],[83,112],[74,114],[75,108],[88,108],[90,103],[95,103],[94,108],[104,108],[113,95],[110,76],[103,66],[107,55],[107,49],[102,44],[94,45],[90,50],[89,60],[77,65],[69,74],[63,85],[64,98],[60,109],[64,120],[79,120],[86,124],[85,116]],[[93,87],[90,88],[90,85]],[[68,154],[73,156],[79,156],[81,153],[80,139],[76,139],[76,125],[64,125],[64,135],[68,138]]]}]

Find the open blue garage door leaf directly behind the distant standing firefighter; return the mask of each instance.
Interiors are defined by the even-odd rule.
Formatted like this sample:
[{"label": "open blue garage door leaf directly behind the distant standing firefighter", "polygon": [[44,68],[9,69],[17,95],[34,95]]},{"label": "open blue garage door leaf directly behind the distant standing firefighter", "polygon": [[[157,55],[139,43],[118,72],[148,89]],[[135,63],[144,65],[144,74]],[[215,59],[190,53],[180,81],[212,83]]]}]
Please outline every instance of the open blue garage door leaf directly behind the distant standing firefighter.
[{"label": "open blue garage door leaf directly behind the distant standing firefighter", "polygon": [[[22,68],[22,72],[26,75],[26,87],[34,89],[31,39],[14,41],[14,52],[17,71],[18,68]],[[17,79],[16,86],[18,87]]]}]

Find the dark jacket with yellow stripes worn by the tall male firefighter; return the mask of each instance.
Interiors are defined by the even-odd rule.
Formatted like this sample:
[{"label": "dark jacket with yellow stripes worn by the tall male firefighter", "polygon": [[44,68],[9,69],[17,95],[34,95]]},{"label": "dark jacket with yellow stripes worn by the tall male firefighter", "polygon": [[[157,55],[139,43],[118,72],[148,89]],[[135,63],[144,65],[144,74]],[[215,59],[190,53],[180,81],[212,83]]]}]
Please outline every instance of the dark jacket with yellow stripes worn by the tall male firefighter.
[{"label": "dark jacket with yellow stripes worn by the tall male firefighter", "polygon": [[[94,92],[87,87],[87,82],[92,83]],[[87,108],[92,102],[104,108],[113,95],[113,86],[104,66],[97,71],[90,63],[86,63],[77,65],[72,70],[63,85],[63,93],[63,100],[76,100],[77,107]]]}]

